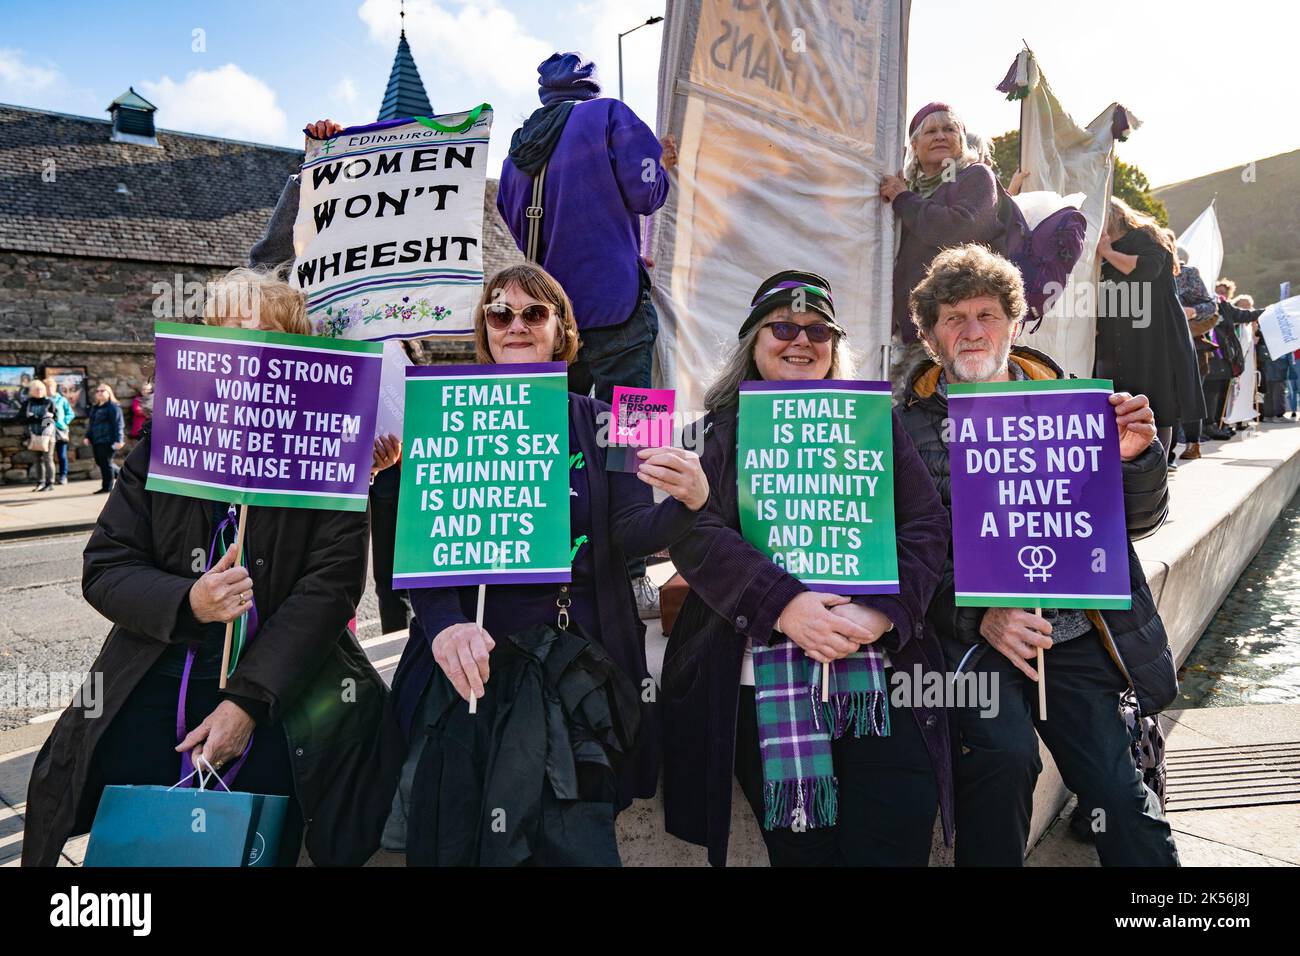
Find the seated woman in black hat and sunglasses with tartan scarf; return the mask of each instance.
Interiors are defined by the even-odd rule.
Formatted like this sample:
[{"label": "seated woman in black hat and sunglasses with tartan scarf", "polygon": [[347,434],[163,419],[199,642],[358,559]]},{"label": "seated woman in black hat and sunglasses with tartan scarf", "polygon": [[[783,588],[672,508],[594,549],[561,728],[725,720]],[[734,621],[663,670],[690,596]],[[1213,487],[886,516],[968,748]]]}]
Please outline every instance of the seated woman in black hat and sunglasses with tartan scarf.
[{"label": "seated woman in black hat and sunglasses with tartan scarf", "polygon": [[[738,338],[705,395],[708,503],[671,549],[690,593],[663,666],[667,830],[708,847],[710,862],[723,865],[734,775],[774,866],[924,866],[936,806],[942,806],[945,832],[952,819],[948,722],[941,709],[919,706],[919,698],[909,706],[913,698],[900,687],[919,693],[918,678],[942,670],[926,609],[948,551],[946,511],[894,415],[898,594],[811,592],[748,544],[736,502],[741,382],[854,373],[831,286],[810,272],[766,280]],[[770,652],[786,654],[790,665],[771,666],[776,657]],[[850,685],[848,679],[841,684],[844,669],[889,688],[888,695],[868,695],[874,719],[848,717],[836,721],[846,726],[835,728],[814,722],[820,695],[800,683],[798,675],[811,670],[803,656],[835,662],[837,689]],[[894,674],[902,680],[894,682]],[[759,696],[789,701],[789,709],[768,708],[760,721]],[[805,728],[809,735],[801,736]]]}]

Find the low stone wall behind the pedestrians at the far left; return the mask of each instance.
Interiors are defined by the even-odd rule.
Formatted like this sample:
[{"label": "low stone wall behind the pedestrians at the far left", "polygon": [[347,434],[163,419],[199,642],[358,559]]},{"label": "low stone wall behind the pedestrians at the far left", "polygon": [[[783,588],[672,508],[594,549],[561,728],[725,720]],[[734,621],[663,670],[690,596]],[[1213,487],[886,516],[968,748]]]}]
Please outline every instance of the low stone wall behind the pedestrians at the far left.
[{"label": "low stone wall behind the pedestrians at the far left", "polygon": [[[0,365],[34,365],[36,375],[46,365],[83,365],[87,392],[99,382],[108,382],[122,406],[127,434],[131,431],[131,399],[140,394],[140,386],[153,376],[153,342],[68,342],[40,339],[0,338]],[[88,401],[88,399],[87,399]],[[8,484],[35,481],[36,453],[23,447],[23,427],[8,420],[0,421],[0,477]],[[91,449],[82,445],[86,437],[86,419],[73,421],[68,445],[69,480],[99,479],[99,468]],[[134,442],[118,457],[130,451]]]}]

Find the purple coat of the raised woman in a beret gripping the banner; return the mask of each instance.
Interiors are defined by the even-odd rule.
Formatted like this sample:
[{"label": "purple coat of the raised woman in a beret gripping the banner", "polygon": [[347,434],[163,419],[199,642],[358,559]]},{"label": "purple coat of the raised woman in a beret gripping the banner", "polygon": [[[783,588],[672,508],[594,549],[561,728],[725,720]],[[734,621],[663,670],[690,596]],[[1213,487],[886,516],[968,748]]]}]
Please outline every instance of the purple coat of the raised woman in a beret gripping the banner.
[{"label": "purple coat of the raised woman in a beret gripping the banner", "polygon": [[907,297],[940,250],[982,242],[1014,260],[1028,242],[1028,228],[1015,203],[993,170],[980,163],[940,183],[930,199],[904,190],[894,196],[893,209],[902,222],[894,258],[893,330],[904,342],[916,341]]}]

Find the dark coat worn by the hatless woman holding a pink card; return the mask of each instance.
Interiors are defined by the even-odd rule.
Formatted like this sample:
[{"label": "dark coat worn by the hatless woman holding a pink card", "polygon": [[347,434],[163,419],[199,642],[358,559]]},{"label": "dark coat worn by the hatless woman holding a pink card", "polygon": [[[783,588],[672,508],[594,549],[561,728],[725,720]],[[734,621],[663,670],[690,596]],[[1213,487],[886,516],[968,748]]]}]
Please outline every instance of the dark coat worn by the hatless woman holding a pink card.
[{"label": "dark coat worn by the hatless woman holding a pink card", "polygon": [[[697,512],[675,498],[654,503],[650,485],[636,475],[606,471],[604,447],[597,442],[597,415],[610,406],[586,395],[569,394],[569,451],[581,451],[588,462],[588,493],[592,507],[592,548],[595,566],[595,604],[599,633],[592,640],[604,648],[637,689],[646,687],[645,624],[637,617],[636,598],[628,581],[627,557],[644,557],[668,548],[694,525]],[[601,481],[599,479],[604,480]],[[556,585],[558,587],[558,585]],[[416,619],[402,652],[393,695],[398,722],[410,740],[420,695],[437,663],[433,639],[456,622],[473,620],[477,587],[416,588],[410,592]],[[554,620],[554,617],[552,617]],[[520,620],[519,630],[537,620]],[[490,684],[490,679],[489,679]],[[659,779],[659,714],[642,695],[641,730],[633,763],[619,784],[620,803],[653,797]]]}]

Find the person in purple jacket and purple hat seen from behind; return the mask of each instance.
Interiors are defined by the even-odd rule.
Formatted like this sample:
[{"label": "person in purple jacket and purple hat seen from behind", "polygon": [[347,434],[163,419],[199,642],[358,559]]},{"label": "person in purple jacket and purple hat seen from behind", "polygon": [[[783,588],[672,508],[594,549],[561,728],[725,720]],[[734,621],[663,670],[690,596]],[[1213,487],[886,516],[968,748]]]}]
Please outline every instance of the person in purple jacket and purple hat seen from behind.
[{"label": "person in purple jacket and purple hat seen from behind", "polygon": [[[650,388],[659,319],[641,258],[641,216],[668,198],[672,138],[660,143],[636,113],[601,96],[595,64],[552,53],[537,68],[542,101],[510,140],[497,211],[528,254],[533,179],[545,169],[538,264],[573,302],[582,346],[569,392],[612,403],[614,386]],[[628,564],[642,618],[659,617],[645,562]]]}]

